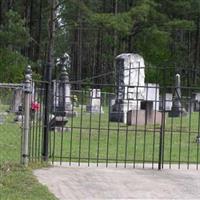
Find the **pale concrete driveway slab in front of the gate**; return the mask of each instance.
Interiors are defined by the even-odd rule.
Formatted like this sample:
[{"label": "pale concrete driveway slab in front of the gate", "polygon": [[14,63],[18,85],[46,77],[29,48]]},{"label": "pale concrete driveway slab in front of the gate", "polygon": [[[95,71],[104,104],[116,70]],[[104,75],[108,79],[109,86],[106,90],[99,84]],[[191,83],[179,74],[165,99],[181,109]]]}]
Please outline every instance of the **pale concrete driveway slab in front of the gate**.
[{"label": "pale concrete driveway slab in front of the gate", "polygon": [[39,182],[66,199],[200,199],[197,170],[50,167],[34,171]]}]

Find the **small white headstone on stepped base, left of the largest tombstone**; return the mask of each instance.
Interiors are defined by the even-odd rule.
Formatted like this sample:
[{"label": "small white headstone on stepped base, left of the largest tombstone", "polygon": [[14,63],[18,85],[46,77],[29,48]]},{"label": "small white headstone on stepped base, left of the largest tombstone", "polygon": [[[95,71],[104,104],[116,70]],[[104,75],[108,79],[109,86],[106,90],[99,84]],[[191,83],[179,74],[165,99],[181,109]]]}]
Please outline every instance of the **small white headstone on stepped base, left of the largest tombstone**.
[{"label": "small white headstone on stepped base, left of the largest tombstone", "polygon": [[101,106],[101,90],[91,89],[90,90],[90,100],[89,104],[86,106],[86,112],[92,113],[104,113]]}]

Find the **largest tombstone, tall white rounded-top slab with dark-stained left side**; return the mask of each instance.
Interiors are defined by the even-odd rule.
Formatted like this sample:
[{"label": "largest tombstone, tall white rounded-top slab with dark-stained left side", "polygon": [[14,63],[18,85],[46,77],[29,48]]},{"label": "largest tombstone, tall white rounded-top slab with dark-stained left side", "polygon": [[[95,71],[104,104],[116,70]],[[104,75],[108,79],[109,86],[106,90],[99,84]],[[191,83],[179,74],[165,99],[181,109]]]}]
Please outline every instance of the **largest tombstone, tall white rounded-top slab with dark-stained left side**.
[{"label": "largest tombstone, tall white rounded-top slab with dark-stained left side", "polygon": [[145,98],[145,65],[138,54],[116,57],[116,99],[110,110],[110,121],[127,123],[129,110],[140,109]]}]

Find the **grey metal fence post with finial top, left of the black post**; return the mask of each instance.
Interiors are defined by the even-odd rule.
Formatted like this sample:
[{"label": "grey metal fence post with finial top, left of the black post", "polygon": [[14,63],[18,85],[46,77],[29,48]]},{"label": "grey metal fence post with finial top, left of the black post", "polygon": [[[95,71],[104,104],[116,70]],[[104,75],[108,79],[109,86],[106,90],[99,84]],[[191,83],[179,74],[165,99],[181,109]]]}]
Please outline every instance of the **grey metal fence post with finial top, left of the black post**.
[{"label": "grey metal fence post with finial top, left of the black post", "polygon": [[25,73],[25,83],[24,83],[24,126],[22,135],[22,155],[21,164],[28,166],[29,157],[29,124],[30,124],[30,100],[31,100],[31,80],[32,80],[32,70],[30,66],[27,66]]}]

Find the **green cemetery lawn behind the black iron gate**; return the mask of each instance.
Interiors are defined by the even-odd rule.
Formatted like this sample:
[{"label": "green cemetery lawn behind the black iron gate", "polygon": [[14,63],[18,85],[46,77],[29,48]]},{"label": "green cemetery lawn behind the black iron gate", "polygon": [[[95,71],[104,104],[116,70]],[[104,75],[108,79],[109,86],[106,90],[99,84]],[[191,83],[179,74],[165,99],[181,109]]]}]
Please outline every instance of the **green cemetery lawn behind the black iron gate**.
[{"label": "green cemetery lawn behind the black iron gate", "polygon": [[[50,159],[63,162],[158,163],[160,126],[127,126],[109,122],[104,114],[77,110],[69,119],[70,131],[51,132]],[[82,112],[82,114],[81,114]],[[164,127],[164,163],[199,163],[199,113],[168,118]]]}]

